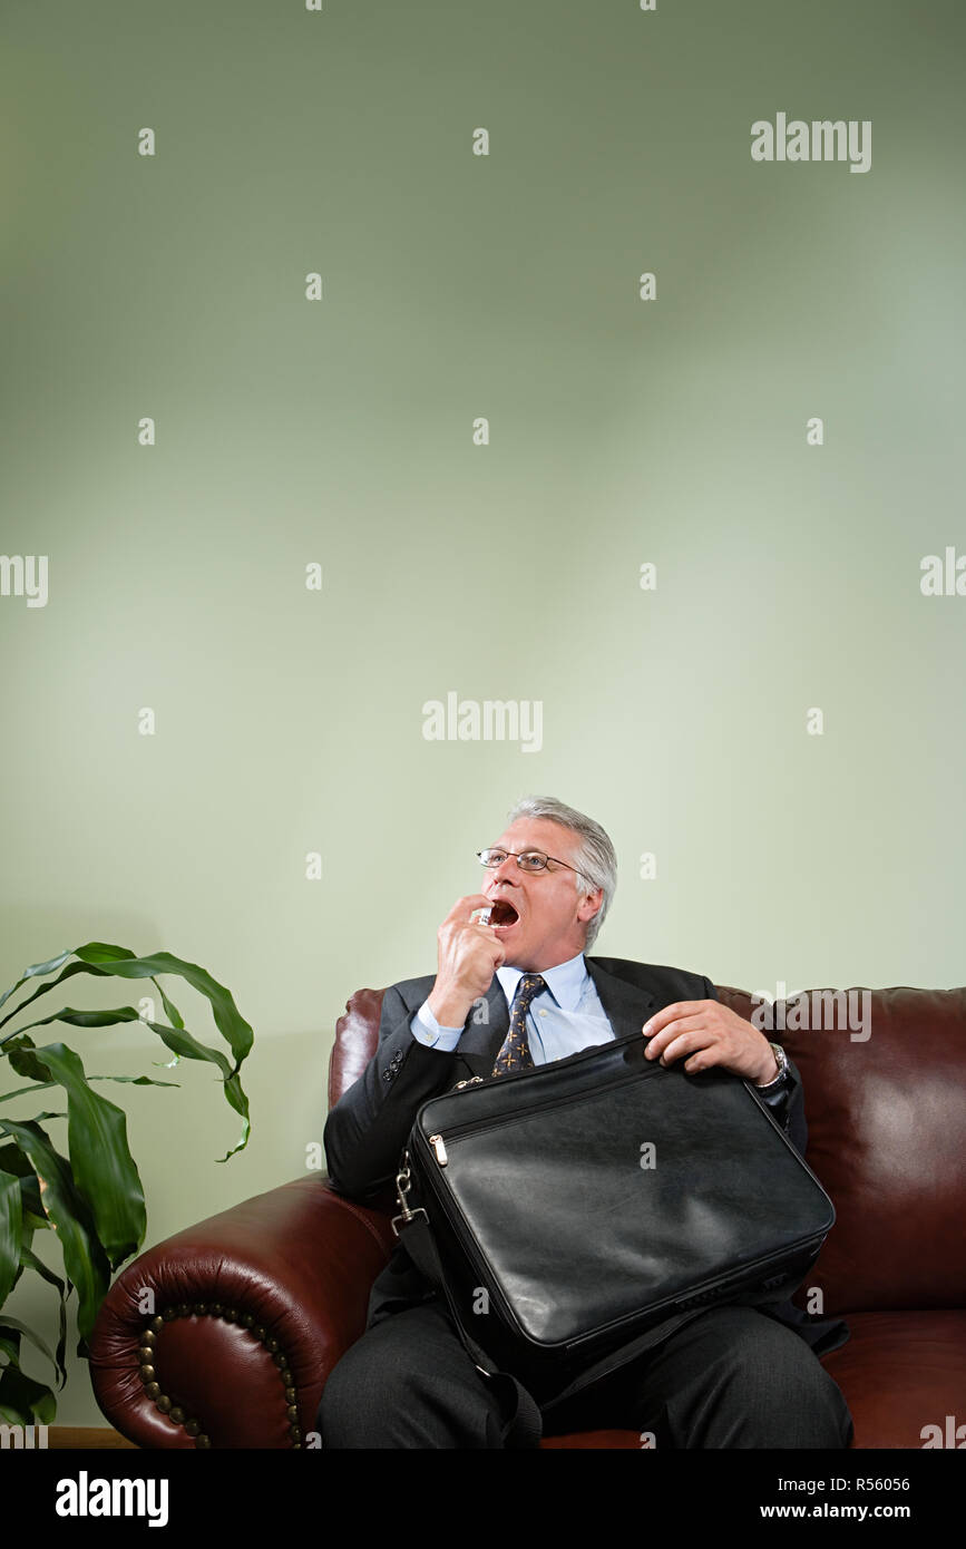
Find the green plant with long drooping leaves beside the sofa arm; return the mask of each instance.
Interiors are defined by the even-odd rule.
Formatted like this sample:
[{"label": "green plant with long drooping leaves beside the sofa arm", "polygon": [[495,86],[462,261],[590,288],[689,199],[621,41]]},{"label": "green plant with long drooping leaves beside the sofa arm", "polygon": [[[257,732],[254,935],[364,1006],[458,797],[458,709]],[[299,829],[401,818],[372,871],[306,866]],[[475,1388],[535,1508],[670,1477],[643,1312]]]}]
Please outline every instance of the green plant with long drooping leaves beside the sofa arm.
[{"label": "green plant with long drooping leaves beside the sofa arm", "polygon": [[[76,959],[68,962],[68,959]],[[65,967],[67,965],[67,967]],[[60,970],[60,971],[59,971]],[[105,1011],[80,1011],[65,1005],[53,1016],[43,1016],[8,1033],[8,1022],[17,1018],[42,994],[56,990],[76,974],[96,977],[150,979],[161,998],[167,1024],[144,1019],[133,1007],[121,1005]],[[249,1135],[248,1098],[238,1070],[251,1050],[254,1033],[238,1013],[231,993],[204,968],[184,962],[170,953],[138,957],[125,946],[88,942],[74,951],[60,953],[46,963],[25,968],[17,984],[0,996],[0,1008],[31,979],[56,977],[28,994],[0,1018],[0,1056],[9,1061],[19,1086],[0,1095],[0,1422],[8,1425],[42,1425],[54,1419],[54,1391],[26,1376],[20,1366],[20,1341],[28,1338],[40,1349],[63,1388],[67,1371],[68,1298],[77,1292],[77,1355],[88,1355],[88,1340],[110,1286],[111,1273],[141,1248],[147,1228],[144,1190],[127,1145],[127,1117],[115,1103],[91,1086],[93,1081],[133,1081],[136,1086],[176,1086],[138,1075],[87,1075],[79,1055],[62,1042],[37,1046],[33,1029],[50,1022],[71,1027],[108,1027],[116,1022],[139,1022],[150,1027],[172,1050],[169,1066],[180,1060],[206,1060],[221,1072],[224,1098],[242,1115],[242,1137],[220,1162],[228,1162],[245,1149]],[[209,1001],[212,1018],[224,1038],[231,1058],[220,1049],[200,1042],[184,1027],[176,1005],[169,999],[156,974],[178,974]],[[67,1094],[67,1114],[39,1112],[28,1120],[5,1117],[5,1104],[26,1092],[60,1087]],[[48,1118],[67,1117],[68,1154],[56,1151],[43,1129]],[[34,1233],[54,1230],[63,1253],[65,1279],[53,1273],[33,1252]],[[54,1352],[26,1324],[3,1312],[3,1306],[25,1270],[40,1275],[60,1297],[60,1335]]]}]

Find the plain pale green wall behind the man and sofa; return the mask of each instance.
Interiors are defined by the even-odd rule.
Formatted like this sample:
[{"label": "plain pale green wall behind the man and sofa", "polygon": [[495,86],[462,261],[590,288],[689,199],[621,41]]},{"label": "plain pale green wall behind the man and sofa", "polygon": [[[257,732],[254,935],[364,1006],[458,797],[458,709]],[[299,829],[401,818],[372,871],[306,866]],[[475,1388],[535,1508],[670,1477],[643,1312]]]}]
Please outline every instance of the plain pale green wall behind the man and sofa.
[{"label": "plain pale green wall behind the man and sofa", "polygon": [[[966,555],[957,0],[2,28],[0,548],[48,559],[46,606],[0,596],[5,987],[164,948],[257,1035],[218,1166],[209,1067],[51,1030],[183,1081],[110,1089],[147,1244],[303,1173],[347,996],[435,967],[528,792],[615,840],[602,953],[963,982],[966,596],[921,590]],[[867,121],[868,170],[754,161],[779,113]],[[539,748],[427,740],[450,691],[539,703]],[[37,1287],[8,1310],[56,1338]],[[84,1363],[57,1422],[102,1422]]]}]

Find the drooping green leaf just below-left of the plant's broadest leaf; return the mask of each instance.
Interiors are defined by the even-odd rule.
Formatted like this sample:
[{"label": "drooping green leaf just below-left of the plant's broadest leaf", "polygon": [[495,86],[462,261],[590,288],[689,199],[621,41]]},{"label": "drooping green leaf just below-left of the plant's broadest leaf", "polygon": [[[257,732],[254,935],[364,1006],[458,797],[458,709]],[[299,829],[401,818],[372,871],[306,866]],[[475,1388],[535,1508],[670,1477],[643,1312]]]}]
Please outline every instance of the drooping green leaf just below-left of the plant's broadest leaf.
[{"label": "drooping green leaf just below-left of the plant's broadest leaf", "polygon": [[70,1162],[54,1151],[37,1120],[14,1123],[11,1118],[0,1118],[0,1134],[17,1142],[40,1180],[43,1213],[57,1230],[63,1267],[77,1287],[77,1327],[87,1340],[110,1284],[110,1267],[90,1208],[74,1185]]}]

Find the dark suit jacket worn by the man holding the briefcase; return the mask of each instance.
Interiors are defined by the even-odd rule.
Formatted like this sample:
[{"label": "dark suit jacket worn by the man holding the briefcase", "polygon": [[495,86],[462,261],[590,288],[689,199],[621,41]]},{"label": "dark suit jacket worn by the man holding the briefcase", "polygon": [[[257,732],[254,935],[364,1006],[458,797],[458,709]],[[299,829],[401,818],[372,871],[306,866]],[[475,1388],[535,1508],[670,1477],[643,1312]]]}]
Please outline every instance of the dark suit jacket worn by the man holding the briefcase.
[{"label": "dark suit jacket worn by the man holding the briefcase", "polygon": [[[701,974],[622,957],[588,957],[588,973],[596,985],[615,1038],[639,1032],[649,1016],[675,1001],[717,1001],[717,991]],[[355,1199],[384,1199],[399,1166],[416,1111],[430,1097],[449,1092],[471,1075],[488,1077],[509,1029],[509,1008],[494,974],[483,1008],[471,1011],[460,1042],[450,1053],[427,1049],[412,1036],[413,1013],[423,1005],[433,974],[404,979],[382,999],[379,1044],[368,1066],[331,1109],[325,1123],[328,1176],[342,1194]],[[805,1156],[808,1131],[802,1101],[802,1080],[790,1061],[790,1073],[776,1095],[760,1095],[788,1139]],[[368,1326],[393,1312],[412,1307],[435,1295],[399,1244],[376,1279],[368,1304]],[[848,1338],[839,1320],[816,1320],[791,1301],[759,1307],[766,1317],[790,1324],[816,1354],[838,1349]],[[669,1331],[670,1332],[670,1331]]]}]

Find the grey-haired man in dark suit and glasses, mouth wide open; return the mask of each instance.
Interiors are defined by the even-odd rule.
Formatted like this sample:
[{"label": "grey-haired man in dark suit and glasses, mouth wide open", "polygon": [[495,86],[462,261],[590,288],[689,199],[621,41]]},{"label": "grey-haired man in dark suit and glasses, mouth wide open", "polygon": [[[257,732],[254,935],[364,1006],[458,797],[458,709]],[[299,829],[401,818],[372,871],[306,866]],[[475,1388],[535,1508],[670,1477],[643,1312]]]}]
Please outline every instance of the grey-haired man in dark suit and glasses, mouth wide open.
[{"label": "grey-haired man in dark suit and glasses, mouth wide open", "polygon": [[[385,991],[378,1050],[328,1115],[336,1190],[379,1196],[418,1108],[457,1081],[632,1032],[666,1066],[718,1066],[752,1083],[805,1152],[797,1069],[721,1005],[706,977],[585,957],[616,888],[598,823],[554,798],[528,798],[480,860],[485,891],[446,915],[435,977]],[[658,1447],[847,1447],[851,1416],[817,1360],[847,1338],[844,1323],[814,1321],[791,1303],[677,1314],[644,1354],[551,1410],[545,1431],[633,1428]],[[373,1286],[365,1334],[328,1379],[317,1428],[325,1447],[505,1447],[519,1434],[514,1402],[474,1365],[402,1239]]]}]

